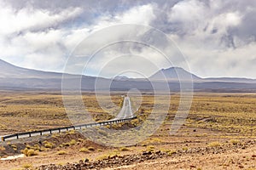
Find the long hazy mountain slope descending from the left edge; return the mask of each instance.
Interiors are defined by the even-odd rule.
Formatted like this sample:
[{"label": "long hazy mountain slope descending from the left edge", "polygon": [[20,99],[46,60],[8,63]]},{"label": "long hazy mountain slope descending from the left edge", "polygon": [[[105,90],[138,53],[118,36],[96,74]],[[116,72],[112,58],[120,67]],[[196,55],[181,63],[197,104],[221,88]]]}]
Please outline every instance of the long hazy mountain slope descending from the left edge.
[{"label": "long hazy mountain slope descending from the left edge", "polygon": [[[64,74],[70,82],[81,77],[80,75]],[[0,88],[4,89],[61,89],[62,73],[36,71],[11,65],[0,59]],[[101,79],[101,78],[98,78]],[[102,80],[105,80],[102,78]],[[93,90],[96,77],[82,76],[82,88]],[[74,85],[71,85],[71,87]]]}]

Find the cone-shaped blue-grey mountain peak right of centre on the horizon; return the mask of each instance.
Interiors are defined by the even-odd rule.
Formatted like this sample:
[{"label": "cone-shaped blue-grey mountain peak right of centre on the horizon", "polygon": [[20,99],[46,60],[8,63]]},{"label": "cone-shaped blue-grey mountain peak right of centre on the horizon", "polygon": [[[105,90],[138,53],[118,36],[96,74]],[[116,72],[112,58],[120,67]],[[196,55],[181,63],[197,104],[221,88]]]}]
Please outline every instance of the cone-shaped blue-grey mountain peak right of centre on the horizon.
[{"label": "cone-shaped blue-grey mountain peak right of centre on the horizon", "polygon": [[149,77],[151,80],[167,80],[167,81],[200,81],[201,77],[195,76],[195,74],[185,71],[180,67],[171,67],[168,69],[161,69]]}]

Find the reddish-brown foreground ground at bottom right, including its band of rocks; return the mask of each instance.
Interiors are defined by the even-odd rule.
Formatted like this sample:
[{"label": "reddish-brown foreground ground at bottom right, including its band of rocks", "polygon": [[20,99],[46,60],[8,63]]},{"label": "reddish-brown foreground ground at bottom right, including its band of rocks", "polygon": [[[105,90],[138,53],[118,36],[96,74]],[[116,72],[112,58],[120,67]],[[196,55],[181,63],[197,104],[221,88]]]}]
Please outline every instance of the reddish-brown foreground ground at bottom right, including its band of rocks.
[{"label": "reddish-brown foreground ground at bottom right, including its band of rocks", "polygon": [[[256,141],[247,140],[243,144],[197,147],[176,151],[144,151],[143,153],[133,155],[108,156],[98,161],[85,159],[75,163],[67,163],[66,165],[42,165],[37,167],[37,169],[145,169],[145,167],[147,167],[146,169],[201,169],[207,167],[209,161],[214,161],[214,159],[216,161],[216,158],[221,161],[218,160],[218,164],[212,164],[211,162],[212,167],[207,167],[206,169],[213,167],[215,169],[256,169],[255,151]],[[205,161],[203,158],[205,158]]]}]

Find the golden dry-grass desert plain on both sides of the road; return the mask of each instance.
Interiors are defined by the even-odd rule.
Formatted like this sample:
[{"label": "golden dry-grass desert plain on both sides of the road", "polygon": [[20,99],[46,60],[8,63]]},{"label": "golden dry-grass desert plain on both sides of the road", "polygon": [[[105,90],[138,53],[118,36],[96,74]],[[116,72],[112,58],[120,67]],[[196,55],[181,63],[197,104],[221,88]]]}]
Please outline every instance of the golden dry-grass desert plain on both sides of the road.
[{"label": "golden dry-grass desert plain on both sides of the road", "polygon": [[[92,120],[96,122],[113,119],[123,104],[123,97],[124,94],[120,92],[112,93],[110,100],[107,94],[99,94],[96,98],[93,93],[84,93],[84,113],[88,112]],[[248,150],[247,154],[244,154],[243,160],[241,161],[241,155],[238,155],[237,158],[234,155],[231,161],[228,158],[216,157],[219,169],[225,167],[236,169],[241,167],[242,162],[247,162],[243,167],[253,167],[253,144],[256,141],[256,94],[196,93],[192,99],[186,122],[177,133],[172,135],[169,132],[177,113],[180,95],[172,94],[171,100],[168,100],[169,97],[166,95],[154,96],[149,93],[142,96],[131,95],[132,111],[137,119],[105,126],[107,127],[105,129],[118,130],[117,133],[108,133],[106,130],[102,130],[102,127],[94,127],[85,129],[84,132],[87,132],[85,134],[88,135],[69,131],[54,133],[51,136],[2,142],[1,157],[21,153],[26,157],[20,159],[21,164],[20,161],[9,161],[8,164],[4,163],[5,161],[0,161],[0,167],[10,169],[11,167],[21,167],[21,169],[39,167],[42,164],[48,164],[49,159],[52,160],[51,163],[61,166],[86,157],[90,160],[89,167],[92,165],[102,168],[119,166],[120,163],[129,165],[137,160],[143,162],[162,158],[170,161],[168,157],[176,159],[181,156],[179,165],[183,165],[183,167],[188,167],[188,163],[192,160],[190,163],[193,163],[193,167],[209,169],[215,166],[214,163],[212,164],[211,156],[215,156],[215,154],[226,156],[225,154],[229,151],[229,157],[230,153],[234,154],[237,150],[244,150],[244,152]],[[72,122],[84,123],[88,118],[82,114],[83,111],[82,113],[72,112],[67,116],[60,93],[9,91],[1,92],[0,99],[1,135],[65,127],[71,125]],[[76,104],[76,101],[73,100],[74,96],[70,95],[66,99],[73,105]],[[152,111],[155,116],[152,116]],[[152,122],[158,116],[166,117],[154,133],[148,138],[143,138],[143,134],[147,133],[148,129],[154,129],[155,125]],[[72,122],[69,118],[72,119]],[[137,135],[134,135],[132,131],[122,133],[123,130],[139,126],[146,128]],[[97,139],[98,143],[90,141],[90,137],[98,138],[96,136],[99,134],[102,135],[102,138]],[[116,146],[106,146],[104,143]],[[130,143],[131,145],[126,147],[120,146]],[[250,149],[250,147],[253,148]],[[153,155],[150,157],[151,154]],[[204,155],[207,155],[209,160],[206,160],[208,158]],[[189,157],[183,158],[183,156]],[[191,159],[193,156],[196,159]],[[124,161],[124,159],[127,160]],[[184,159],[186,161],[183,161]],[[197,159],[209,162],[204,164],[201,161],[195,161]],[[234,164],[234,160],[241,162]],[[105,161],[108,163],[104,164]],[[155,169],[158,164],[159,161],[152,168]]]}]

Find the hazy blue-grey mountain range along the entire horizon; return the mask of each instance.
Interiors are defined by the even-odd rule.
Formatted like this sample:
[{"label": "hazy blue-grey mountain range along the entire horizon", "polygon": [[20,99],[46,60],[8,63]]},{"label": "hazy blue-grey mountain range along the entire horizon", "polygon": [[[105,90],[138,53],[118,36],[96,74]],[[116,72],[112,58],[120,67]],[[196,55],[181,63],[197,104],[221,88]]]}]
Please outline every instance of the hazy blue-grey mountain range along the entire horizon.
[{"label": "hazy blue-grey mountain range along the entire horizon", "polygon": [[[171,91],[178,92],[181,81],[194,80],[194,90],[204,92],[256,92],[256,80],[246,78],[201,78],[189,71],[179,67],[171,67],[157,71],[149,77],[154,81],[154,88],[148,79],[136,79],[128,77],[114,77],[107,79],[102,77],[89,77],[81,75],[62,74],[49,71],[36,71],[11,65],[0,59],[0,89],[15,90],[61,90],[62,76],[66,77],[69,89],[80,88],[84,91],[112,90],[127,91],[131,88],[137,88],[141,91],[150,91],[154,89],[166,90],[162,82],[163,75],[169,81],[168,85]],[[168,89],[169,89],[168,88]]]}]

